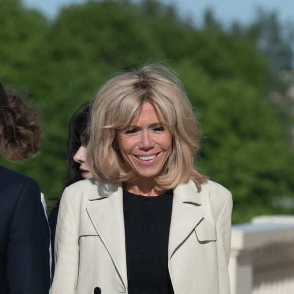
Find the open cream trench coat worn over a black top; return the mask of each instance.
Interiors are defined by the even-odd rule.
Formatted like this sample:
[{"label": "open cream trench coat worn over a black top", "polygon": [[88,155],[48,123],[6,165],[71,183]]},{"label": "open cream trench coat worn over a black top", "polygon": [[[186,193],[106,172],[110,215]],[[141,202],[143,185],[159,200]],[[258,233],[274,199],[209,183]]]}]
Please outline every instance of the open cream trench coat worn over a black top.
[{"label": "open cream trench coat worn over a black top", "polygon": [[[175,294],[230,293],[231,212],[231,193],[213,181],[201,191],[193,181],[174,189],[168,269]],[[65,189],[55,260],[51,294],[128,293],[121,185],[86,179]]]}]

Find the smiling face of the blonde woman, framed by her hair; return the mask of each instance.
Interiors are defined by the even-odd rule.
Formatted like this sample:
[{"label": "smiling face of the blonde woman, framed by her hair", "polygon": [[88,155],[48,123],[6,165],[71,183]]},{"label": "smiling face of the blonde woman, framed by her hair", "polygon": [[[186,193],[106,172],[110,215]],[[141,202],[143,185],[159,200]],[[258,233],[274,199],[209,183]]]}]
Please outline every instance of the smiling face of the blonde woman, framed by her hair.
[{"label": "smiling face of the blonde woman, framed by her hair", "polygon": [[144,180],[161,173],[172,143],[171,134],[153,105],[145,102],[138,118],[119,133],[118,144],[126,167],[131,166]]}]

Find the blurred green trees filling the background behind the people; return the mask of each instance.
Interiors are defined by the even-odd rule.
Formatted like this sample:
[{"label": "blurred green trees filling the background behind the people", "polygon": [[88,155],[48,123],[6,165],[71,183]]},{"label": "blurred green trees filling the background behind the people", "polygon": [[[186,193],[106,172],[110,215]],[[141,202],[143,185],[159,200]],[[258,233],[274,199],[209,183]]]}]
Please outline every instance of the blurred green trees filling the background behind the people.
[{"label": "blurred green trees filling the background behind the people", "polygon": [[232,191],[233,223],[294,213],[294,24],[263,10],[247,25],[224,26],[211,10],[203,18],[197,27],[159,1],[105,0],[49,20],[0,0],[0,81],[40,109],[45,134],[38,157],[0,164],[35,178],[50,210],[71,115],[117,72],[165,61],[201,124],[197,168]]}]

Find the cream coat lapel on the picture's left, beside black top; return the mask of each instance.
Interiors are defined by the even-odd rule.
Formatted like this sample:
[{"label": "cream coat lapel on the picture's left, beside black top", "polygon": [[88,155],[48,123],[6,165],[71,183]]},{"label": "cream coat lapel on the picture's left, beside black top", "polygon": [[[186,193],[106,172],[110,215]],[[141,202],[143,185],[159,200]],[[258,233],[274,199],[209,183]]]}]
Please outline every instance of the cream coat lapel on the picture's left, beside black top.
[{"label": "cream coat lapel on the picture's left, beside black top", "polygon": [[120,185],[99,180],[89,196],[87,212],[127,289],[123,192]]}]

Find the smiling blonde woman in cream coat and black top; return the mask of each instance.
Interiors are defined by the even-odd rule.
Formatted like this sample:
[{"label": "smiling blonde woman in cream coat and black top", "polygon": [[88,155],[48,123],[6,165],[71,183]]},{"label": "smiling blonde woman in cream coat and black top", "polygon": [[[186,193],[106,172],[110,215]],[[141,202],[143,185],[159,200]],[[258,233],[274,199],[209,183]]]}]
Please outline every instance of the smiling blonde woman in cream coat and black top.
[{"label": "smiling blonde woman in cream coat and black top", "polygon": [[65,189],[52,294],[228,294],[231,193],[194,167],[200,132],[174,73],[109,80],[90,119],[96,179]]}]

